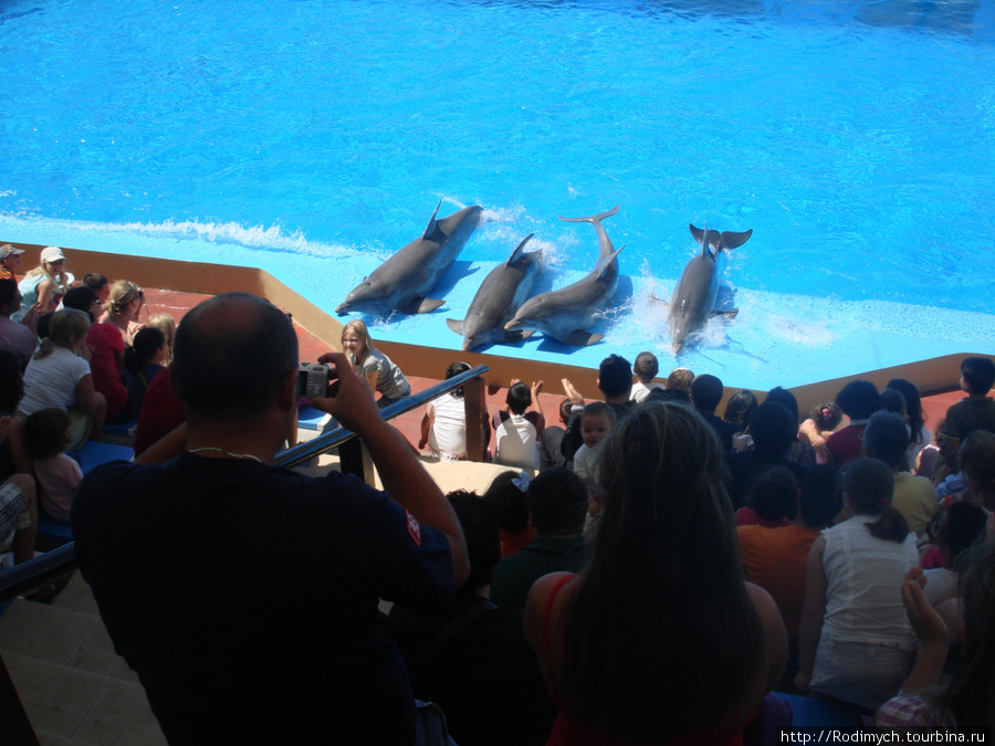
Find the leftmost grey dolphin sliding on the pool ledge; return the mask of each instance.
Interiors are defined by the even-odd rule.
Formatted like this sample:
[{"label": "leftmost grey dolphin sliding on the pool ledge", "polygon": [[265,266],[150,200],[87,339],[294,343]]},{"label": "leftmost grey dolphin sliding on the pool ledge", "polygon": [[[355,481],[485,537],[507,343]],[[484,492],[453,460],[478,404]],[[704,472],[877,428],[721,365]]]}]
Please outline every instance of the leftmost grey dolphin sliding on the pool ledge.
[{"label": "leftmost grey dolphin sliding on the pool ledge", "polygon": [[467,239],[480,222],[482,208],[473,204],[436,220],[440,201],[420,239],[411,241],[380,264],[353,288],[335,313],[362,311],[370,314],[425,314],[443,301],[428,293],[460,255]]}]

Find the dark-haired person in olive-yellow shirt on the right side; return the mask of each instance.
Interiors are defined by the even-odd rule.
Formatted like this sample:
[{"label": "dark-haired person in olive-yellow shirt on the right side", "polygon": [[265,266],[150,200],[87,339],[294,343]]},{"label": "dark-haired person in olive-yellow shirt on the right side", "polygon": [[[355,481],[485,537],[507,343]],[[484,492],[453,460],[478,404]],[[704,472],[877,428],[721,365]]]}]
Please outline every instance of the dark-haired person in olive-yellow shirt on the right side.
[{"label": "dark-haired person in olive-yellow shirt on the right side", "polygon": [[909,451],[909,430],[894,412],[871,414],[863,430],[863,454],[883,461],[894,475],[891,504],[905,518],[909,530],[921,534],[940,509],[936,491],[923,476],[899,471]]}]

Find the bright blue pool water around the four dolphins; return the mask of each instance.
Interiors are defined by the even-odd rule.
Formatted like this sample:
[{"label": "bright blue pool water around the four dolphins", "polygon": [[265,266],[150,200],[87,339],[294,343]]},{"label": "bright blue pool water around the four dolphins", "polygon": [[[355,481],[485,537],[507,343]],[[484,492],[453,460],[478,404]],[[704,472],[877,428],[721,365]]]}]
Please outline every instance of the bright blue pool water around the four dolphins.
[{"label": "bright blue pool water around the four dolphins", "polygon": [[[0,81],[7,241],[260,266],[331,309],[439,200],[481,204],[442,308],[367,317],[440,372],[522,238],[562,286],[597,244],[557,216],[615,204],[605,339],[486,351],[757,389],[995,353],[991,0],[0,0]],[[653,298],[689,222],[754,235],[739,317],[675,360]]]}]

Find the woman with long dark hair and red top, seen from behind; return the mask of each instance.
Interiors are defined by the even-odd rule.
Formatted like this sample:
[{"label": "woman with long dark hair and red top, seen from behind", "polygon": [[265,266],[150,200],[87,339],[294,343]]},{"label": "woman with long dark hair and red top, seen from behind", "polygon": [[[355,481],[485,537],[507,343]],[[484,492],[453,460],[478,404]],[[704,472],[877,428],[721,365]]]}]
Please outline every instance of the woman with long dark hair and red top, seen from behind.
[{"label": "woman with long dark hair and red top, seen from behind", "polygon": [[601,444],[604,515],[589,566],[533,586],[525,634],[558,744],[739,744],[787,639],[747,584],[722,453],[688,407],[650,403]]}]

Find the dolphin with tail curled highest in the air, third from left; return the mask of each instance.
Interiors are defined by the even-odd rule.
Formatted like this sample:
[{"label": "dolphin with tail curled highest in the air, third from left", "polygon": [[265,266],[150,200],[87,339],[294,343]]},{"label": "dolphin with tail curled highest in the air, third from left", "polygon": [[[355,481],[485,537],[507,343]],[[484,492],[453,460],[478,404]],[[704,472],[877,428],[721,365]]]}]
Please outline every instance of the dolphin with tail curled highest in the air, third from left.
[{"label": "dolphin with tail curled highest in the air, third from left", "polygon": [[[615,296],[618,290],[618,254],[611,240],[601,228],[601,221],[618,212],[618,206],[599,216],[588,218],[561,218],[567,222],[590,223],[598,234],[598,263],[583,280],[559,290],[540,293],[519,308],[505,329],[524,327],[538,329],[566,345],[584,347],[598,342],[604,335],[591,334],[585,326],[594,315]],[[625,246],[622,246],[625,249]]]}]

